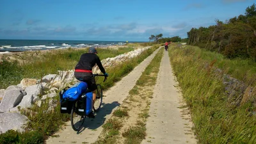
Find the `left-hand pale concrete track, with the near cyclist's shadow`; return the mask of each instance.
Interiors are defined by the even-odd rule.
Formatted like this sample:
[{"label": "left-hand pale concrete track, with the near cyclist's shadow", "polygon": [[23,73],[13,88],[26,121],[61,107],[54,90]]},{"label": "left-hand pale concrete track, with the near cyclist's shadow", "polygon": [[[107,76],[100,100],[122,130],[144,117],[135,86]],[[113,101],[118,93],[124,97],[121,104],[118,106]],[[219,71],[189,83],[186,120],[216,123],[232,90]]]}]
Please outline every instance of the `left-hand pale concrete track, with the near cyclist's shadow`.
[{"label": "left-hand pale concrete track, with the near cyclist's shadow", "polygon": [[[159,48],[160,49],[160,48]],[[103,92],[102,108],[95,115],[95,118],[86,118],[84,127],[81,131],[76,132],[72,129],[70,121],[66,123],[66,126],[62,130],[56,132],[54,137],[49,138],[46,143],[93,143],[97,140],[100,132],[102,131],[102,125],[106,122],[115,109],[120,106],[122,101],[129,95],[129,91],[134,87],[136,81],[140,78],[142,72],[147,65],[152,61],[157,49],[148,58],[140,63],[132,70],[127,76],[123,77],[121,81],[115,84],[115,86],[109,88],[108,91]]]}]

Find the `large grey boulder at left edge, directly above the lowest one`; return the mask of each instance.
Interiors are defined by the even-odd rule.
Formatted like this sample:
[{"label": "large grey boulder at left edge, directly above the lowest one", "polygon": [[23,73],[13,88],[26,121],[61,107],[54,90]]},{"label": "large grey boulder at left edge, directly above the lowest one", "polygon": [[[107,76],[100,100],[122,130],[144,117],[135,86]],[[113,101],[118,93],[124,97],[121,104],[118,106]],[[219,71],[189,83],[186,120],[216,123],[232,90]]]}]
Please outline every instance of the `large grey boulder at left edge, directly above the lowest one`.
[{"label": "large grey boulder at left edge, directly above the lowest one", "polygon": [[0,103],[0,112],[7,112],[10,108],[17,106],[24,94],[20,90],[4,91],[3,100]]}]

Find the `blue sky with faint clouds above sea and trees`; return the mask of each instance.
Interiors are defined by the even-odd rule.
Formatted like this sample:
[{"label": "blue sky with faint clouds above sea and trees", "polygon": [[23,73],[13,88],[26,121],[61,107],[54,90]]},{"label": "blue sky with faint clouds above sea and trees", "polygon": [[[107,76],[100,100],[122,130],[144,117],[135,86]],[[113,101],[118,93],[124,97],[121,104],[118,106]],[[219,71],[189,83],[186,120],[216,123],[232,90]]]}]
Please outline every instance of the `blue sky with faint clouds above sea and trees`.
[{"label": "blue sky with faint clouds above sea and trees", "polygon": [[244,14],[255,0],[0,0],[0,39],[148,41]]}]

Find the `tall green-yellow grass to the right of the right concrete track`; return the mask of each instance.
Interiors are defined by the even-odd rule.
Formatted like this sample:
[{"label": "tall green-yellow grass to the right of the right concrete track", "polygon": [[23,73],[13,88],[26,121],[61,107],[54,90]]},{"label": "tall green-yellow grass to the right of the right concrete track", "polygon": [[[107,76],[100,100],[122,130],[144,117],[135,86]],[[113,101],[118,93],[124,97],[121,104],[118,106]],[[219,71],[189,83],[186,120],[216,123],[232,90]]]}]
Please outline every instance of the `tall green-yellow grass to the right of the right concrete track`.
[{"label": "tall green-yellow grass to the right of the right concrete track", "polygon": [[[213,68],[225,65],[220,68],[236,76],[231,69],[244,75],[248,71],[242,69],[250,65],[249,72],[253,75],[254,64],[226,60],[219,54],[201,51],[196,47],[171,47],[169,54],[182,93],[191,109],[198,142],[256,143],[256,117],[252,115],[255,107],[246,103],[237,108],[228,103],[225,86]],[[212,62],[215,59],[216,65]]]}]

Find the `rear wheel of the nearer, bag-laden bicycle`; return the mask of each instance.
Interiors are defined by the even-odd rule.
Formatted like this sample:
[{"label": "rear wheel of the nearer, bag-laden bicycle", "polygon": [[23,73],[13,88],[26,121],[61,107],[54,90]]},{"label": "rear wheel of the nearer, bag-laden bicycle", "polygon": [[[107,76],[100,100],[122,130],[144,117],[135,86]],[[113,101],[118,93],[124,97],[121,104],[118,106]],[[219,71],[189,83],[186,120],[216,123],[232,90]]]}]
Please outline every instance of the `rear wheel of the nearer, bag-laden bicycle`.
[{"label": "rear wheel of the nearer, bag-laden bicycle", "polygon": [[71,126],[72,126],[72,129],[74,129],[74,131],[79,131],[83,127],[84,119],[85,119],[85,116],[77,115],[76,113],[77,108],[78,108],[77,101],[75,101],[73,103],[71,113],[70,113]]}]

